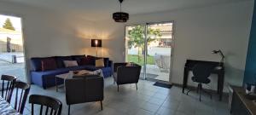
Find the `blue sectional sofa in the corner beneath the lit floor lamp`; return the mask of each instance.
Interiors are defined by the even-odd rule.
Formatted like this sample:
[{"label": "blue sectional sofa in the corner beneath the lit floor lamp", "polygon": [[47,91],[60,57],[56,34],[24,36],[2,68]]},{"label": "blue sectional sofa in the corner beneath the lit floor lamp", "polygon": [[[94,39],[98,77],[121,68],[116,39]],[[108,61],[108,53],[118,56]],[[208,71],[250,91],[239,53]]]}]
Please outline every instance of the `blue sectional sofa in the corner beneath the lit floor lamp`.
[{"label": "blue sectional sofa in the corner beneath the lit floor lamp", "polygon": [[[98,57],[90,56],[93,59],[98,59]],[[49,71],[42,71],[42,61],[46,58],[55,59],[56,68],[54,70]],[[63,60],[77,60],[78,63],[82,58],[88,58],[85,57],[85,55],[72,55],[72,56],[55,56],[55,57],[35,57],[31,58],[31,82],[33,84],[37,84],[38,86],[43,87],[44,89],[47,89],[49,87],[55,86],[55,76],[58,74],[67,73],[69,71],[78,71],[78,70],[89,70],[89,71],[95,71],[97,69],[102,69],[104,78],[110,77],[113,75],[113,61],[109,60],[108,58],[104,59],[104,66],[103,67],[96,67],[95,61],[90,62],[90,64],[81,65],[79,66],[72,66],[72,67],[65,67],[63,64]],[[58,80],[58,84],[63,83],[63,80]]]}]

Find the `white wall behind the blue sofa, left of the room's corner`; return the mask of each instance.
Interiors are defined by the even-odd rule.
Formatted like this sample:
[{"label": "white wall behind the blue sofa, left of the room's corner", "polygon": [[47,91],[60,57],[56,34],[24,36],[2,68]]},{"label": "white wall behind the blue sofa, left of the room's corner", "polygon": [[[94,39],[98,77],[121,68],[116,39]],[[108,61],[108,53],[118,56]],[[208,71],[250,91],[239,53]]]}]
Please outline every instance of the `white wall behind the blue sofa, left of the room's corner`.
[{"label": "white wall behind the blue sofa, left of the room's corner", "polygon": [[22,18],[27,73],[31,57],[95,55],[90,48],[90,38],[96,37],[95,22],[79,15],[5,2],[0,2],[0,14]]}]

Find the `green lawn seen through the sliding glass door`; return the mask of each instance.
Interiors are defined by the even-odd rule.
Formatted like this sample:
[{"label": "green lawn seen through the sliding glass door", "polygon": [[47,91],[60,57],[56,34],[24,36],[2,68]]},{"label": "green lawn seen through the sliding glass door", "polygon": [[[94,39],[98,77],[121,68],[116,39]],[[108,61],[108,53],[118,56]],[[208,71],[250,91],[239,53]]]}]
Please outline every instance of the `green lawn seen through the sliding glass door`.
[{"label": "green lawn seen through the sliding glass door", "polygon": [[[138,62],[137,55],[128,55],[128,61],[129,62],[135,62],[139,65],[143,65],[143,62],[144,62],[143,55],[141,57],[140,62]],[[150,55],[147,56],[147,64],[148,65],[154,65],[154,56],[150,56]]]}]

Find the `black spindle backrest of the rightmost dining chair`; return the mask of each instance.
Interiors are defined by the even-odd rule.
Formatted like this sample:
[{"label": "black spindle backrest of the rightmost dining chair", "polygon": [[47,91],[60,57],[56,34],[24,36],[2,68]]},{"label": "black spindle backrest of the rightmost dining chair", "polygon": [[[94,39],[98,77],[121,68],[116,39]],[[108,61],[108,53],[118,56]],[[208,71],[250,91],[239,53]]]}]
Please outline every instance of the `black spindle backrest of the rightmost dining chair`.
[{"label": "black spindle backrest of the rightmost dining chair", "polygon": [[[40,106],[40,115],[43,114],[43,107],[46,106],[45,115],[61,115],[61,101],[46,95],[30,95],[29,103],[32,104],[32,115],[34,114],[34,104]],[[49,110],[50,109],[50,110]]]}]

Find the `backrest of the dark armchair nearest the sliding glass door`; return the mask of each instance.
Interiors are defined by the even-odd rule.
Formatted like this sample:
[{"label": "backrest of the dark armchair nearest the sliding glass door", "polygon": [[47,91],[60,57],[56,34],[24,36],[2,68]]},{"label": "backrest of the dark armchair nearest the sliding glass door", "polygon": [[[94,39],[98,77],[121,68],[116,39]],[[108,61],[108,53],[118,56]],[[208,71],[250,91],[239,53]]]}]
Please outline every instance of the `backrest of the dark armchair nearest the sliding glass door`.
[{"label": "backrest of the dark armchair nearest the sliding glass door", "polygon": [[140,78],[142,66],[119,66],[117,69],[117,83],[137,83]]}]

